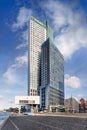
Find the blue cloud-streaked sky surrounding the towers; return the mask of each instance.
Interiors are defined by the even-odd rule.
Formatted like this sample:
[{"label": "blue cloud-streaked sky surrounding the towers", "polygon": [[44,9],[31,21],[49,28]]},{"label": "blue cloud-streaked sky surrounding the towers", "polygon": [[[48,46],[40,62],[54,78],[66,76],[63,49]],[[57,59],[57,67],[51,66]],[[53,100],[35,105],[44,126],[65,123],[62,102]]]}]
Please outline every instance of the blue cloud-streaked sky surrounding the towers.
[{"label": "blue cloud-streaked sky surrounding the towers", "polygon": [[87,1],[0,1],[0,109],[27,95],[29,17],[49,21],[64,55],[65,98],[87,99]]}]

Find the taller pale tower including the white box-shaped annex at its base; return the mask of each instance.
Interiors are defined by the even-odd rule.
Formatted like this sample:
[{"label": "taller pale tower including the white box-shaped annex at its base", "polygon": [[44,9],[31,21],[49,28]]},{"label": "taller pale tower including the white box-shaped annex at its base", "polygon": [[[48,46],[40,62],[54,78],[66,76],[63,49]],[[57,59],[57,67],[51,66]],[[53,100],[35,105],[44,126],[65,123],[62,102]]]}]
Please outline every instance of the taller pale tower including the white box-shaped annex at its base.
[{"label": "taller pale tower including the white box-shaped annex at its base", "polygon": [[48,22],[44,24],[31,16],[28,49],[28,96],[15,97],[16,104],[26,105],[30,111],[37,111],[40,105],[41,46],[48,37],[51,37],[53,41],[53,31]]}]

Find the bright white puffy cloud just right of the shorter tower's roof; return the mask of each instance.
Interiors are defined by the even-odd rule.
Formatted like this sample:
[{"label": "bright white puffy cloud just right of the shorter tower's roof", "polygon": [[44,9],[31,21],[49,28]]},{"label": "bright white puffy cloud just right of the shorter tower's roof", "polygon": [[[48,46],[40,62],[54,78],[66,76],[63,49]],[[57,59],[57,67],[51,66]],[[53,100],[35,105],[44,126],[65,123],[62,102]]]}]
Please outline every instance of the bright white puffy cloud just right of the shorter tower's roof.
[{"label": "bright white puffy cloud just right of the shorter tower's roof", "polygon": [[87,30],[80,27],[76,31],[70,30],[70,32],[64,33],[60,37],[56,36],[54,42],[63,53],[65,59],[68,59],[81,47],[87,47],[86,34]]}]

